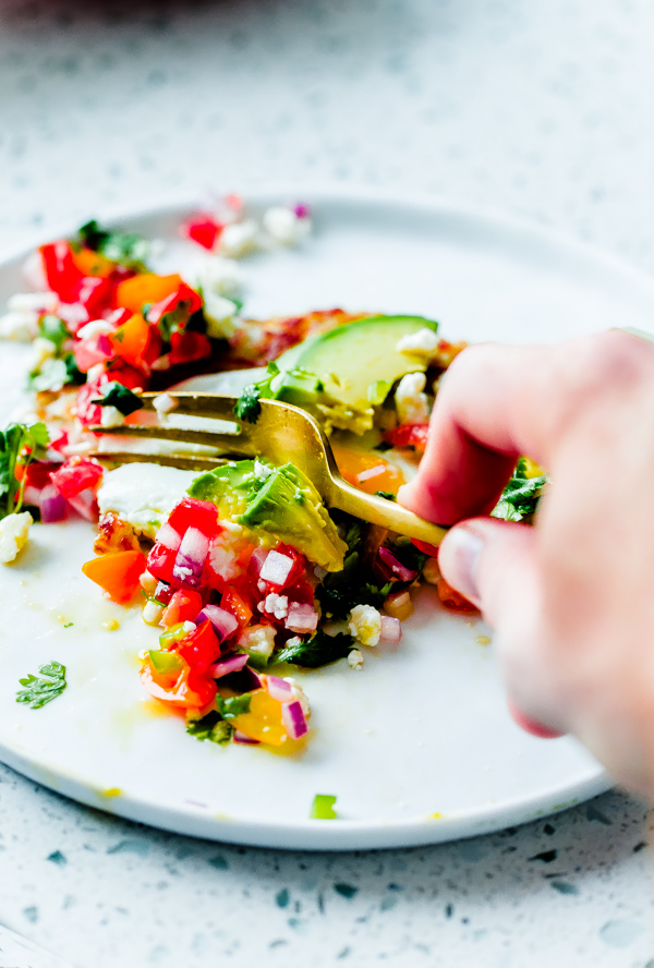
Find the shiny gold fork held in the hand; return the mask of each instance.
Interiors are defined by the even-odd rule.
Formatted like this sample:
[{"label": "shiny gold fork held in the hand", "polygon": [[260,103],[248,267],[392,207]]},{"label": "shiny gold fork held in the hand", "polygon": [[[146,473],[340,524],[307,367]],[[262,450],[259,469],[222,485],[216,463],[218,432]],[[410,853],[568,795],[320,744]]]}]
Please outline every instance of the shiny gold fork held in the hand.
[{"label": "shiny gold fork held in the hand", "polygon": [[[160,394],[141,394],[143,410],[148,415],[157,415],[155,400]],[[263,457],[274,464],[290,463],[302,471],[314,484],[328,508],[339,508],[355,518],[372,524],[380,524],[408,537],[417,539],[431,545],[438,545],[447,533],[440,528],[401,505],[384,497],[376,497],[353,487],[341,476],[329,440],[324,431],[306,411],[278,400],[261,400],[261,411],[254,423],[239,420],[234,415],[238,397],[221,394],[194,394],[192,391],[167,391],[174,401],[171,420],[177,416],[202,418],[207,421],[205,428],[173,426],[164,418],[153,423],[128,424],[121,427],[90,427],[94,433],[119,434],[129,437],[146,437],[152,441],[178,440],[186,445],[201,445],[214,449],[209,452],[193,453],[153,451],[148,453],[106,450],[96,452],[101,460],[118,463],[126,461],[149,461],[172,467],[206,470],[225,463],[225,457]],[[233,432],[210,428],[209,420],[229,421]]]}]

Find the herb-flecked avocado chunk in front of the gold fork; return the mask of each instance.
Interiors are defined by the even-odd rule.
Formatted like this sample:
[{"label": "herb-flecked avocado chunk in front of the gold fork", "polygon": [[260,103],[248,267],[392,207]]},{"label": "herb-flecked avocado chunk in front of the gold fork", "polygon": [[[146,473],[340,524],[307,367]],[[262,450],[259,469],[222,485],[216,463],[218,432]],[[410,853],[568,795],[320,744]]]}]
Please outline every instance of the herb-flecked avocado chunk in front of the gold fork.
[{"label": "herb-flecked avocado chunk in front of the gold fork", "polygon": [[328,571],[340,571],[348,546],[320,495],[298,468],[241,460],[195,479],[189,494],[213,501],[220,517],[279,539]]}]

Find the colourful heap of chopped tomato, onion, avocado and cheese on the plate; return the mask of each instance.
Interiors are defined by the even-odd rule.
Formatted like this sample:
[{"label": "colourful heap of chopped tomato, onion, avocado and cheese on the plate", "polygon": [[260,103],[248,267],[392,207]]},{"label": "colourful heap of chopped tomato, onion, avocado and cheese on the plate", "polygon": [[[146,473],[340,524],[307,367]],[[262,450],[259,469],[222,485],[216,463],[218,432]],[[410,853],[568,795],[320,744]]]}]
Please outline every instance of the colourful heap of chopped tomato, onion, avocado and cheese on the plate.
[{"label": "colourful heap of chopped tomato, onion, avocado and cheese on the plate", "polygon": [[[84,574],[112,601],[141,604],[159,639],[142,654],[143,688],[201,740],[300,743],[310,707],[289,668],[347,660],[361,669],[367,649],[397,646],[420,581],[435,585],[446,607],[472,607],[441,578],[436,557],[328,512],[291,464],[238,461],[192,475],[144,523],[107,497],[129,467],[110,470],[88,456],[97,445],[89,427],[137,420],[142,390],[267,365],[238,416],[255,421],[265,398],[304,407],[331,434],[346,480],[395,499],[402,468],[424,452],[439,378],[464,343],[415,317],[330,310],[247,318],[238,259],[300,244],[310,229],[305,205],[268,209],[259,225],[228,196],[182,226],[206,253],[195,276],[183,278],[154,271],[154,246],[142,237],[89,221],[40,246],[26,266],[35,291],[10,300],[0,318],[0,336],[33,343],[34,391],[34,419],[0,432],[0,560],[15,559],[35,519],[97,523]],[[370,364],[361,399],[351,380],[319,372],[335,334],[364,346],[391,340],[386,370]],[[161,401],[164,414],[165,392]],[[363,433],[365,448],[355,439]],[[162,471],[145,467],[149,475]],[[497,513],[529,520],[544,484],[540,469],[521,461]]]}]

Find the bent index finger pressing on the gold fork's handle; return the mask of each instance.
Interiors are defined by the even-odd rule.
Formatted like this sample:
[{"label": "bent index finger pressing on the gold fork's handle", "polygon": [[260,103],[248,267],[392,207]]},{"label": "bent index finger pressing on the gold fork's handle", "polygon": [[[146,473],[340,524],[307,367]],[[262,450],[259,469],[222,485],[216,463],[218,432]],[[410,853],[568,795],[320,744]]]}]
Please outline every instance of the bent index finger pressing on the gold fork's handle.
[{"label": "bent index finger pressing on the gold fork's handle", "polygon": [[597,394],[623,394],[654,347],[611,331],[556,347],[470,347],[438,392],[401,504],[450,524],[488,513],[525,455],[553,471],[561,438]]}]

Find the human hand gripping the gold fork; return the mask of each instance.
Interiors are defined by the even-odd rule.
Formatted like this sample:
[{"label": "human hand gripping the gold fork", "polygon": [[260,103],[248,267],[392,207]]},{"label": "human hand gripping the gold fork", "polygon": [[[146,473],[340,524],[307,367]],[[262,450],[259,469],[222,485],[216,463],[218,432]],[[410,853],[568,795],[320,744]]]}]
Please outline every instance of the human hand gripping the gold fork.
[{"label": "human hand gripping the gold fork", "polygon": [[[486,517],[519,456],[533,528]],[[452,524],[446,580],[495,629],[517,718],[573,733],[654,797],[654,346],[610,331],[452,363],[401,504]]]}]

